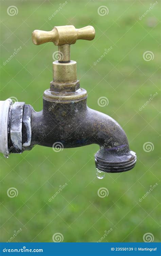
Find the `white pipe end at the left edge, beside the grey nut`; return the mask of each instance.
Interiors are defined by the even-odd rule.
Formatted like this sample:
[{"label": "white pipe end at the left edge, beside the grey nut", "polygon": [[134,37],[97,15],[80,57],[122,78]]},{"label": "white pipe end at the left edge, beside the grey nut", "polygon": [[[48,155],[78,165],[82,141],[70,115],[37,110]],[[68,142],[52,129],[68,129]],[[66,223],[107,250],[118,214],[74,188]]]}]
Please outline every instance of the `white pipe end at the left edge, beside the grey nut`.
[{"label": "white pipe end at the left edge, beside the grey nut", "polygon": [[0,101],[0,152],[5,156],[8,152],[8,115],[13,102],[12,99]]}]

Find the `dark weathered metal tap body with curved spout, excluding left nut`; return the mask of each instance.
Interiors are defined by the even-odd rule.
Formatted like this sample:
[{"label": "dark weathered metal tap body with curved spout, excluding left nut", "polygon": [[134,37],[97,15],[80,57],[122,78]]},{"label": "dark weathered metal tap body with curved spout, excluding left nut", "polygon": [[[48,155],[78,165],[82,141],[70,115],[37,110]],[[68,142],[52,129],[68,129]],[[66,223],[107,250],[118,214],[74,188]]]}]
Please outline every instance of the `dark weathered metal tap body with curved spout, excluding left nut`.
[{"label": "dark weathered metal tap body with curved spout, excluding left nut", "polygon": [[[65,98],[66,96],[64,96]],[[87,97],[87,96],[86,96]],[[90,109],[87,98],[77,101],[50,101],[43,99],[43,110],[31,109],[31,149],[34,145],[64,148],[98,144],[95,165],[104,172],[122,172],[132,169],[136,154],[129,150],[128,140],[121,126],[110,116]],[[24,136],[23,136],[24,137]],[[22,137],[22,138],[23,138]],[[22,143],[25,143],[25,138]]]}]

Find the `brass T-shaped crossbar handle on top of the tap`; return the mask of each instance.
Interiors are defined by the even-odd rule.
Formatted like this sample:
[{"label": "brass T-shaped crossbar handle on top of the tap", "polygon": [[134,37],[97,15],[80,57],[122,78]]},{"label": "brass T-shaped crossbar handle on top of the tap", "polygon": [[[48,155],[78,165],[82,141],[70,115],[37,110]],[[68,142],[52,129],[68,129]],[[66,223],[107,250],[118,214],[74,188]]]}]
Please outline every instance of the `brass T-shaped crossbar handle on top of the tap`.
[{"label": "brass T-shaped crossbar handle on top of the tap", "polygon": [[76,40],[93,40],[95,30],[92,26],[76,29],[73,25],[57,26],[51,31],[34,30],[33,43],[36,45],[53,42],[55,45],[75,44]]}]

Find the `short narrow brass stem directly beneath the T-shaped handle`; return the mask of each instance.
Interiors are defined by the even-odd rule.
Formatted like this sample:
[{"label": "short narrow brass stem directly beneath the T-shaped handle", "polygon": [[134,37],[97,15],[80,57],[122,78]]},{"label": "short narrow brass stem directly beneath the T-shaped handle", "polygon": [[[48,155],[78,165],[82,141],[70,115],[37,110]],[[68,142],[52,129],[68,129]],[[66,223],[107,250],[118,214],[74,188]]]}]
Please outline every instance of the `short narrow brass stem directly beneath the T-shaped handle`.
[{"label": "short narrow brass stem directly beneath the T-shaped handle", "polygon": [[58,61],[60,63],[70,62],[70,44],[58,45]]}]

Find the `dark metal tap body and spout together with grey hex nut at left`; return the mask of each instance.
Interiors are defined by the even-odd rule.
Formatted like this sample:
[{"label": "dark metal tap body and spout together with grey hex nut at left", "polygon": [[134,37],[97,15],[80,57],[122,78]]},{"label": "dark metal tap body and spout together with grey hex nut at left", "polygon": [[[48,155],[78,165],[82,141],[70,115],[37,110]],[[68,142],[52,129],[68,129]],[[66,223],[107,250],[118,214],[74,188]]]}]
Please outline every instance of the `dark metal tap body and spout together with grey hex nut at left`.
[{"label": "dark metal tap body and spout together with grey hex nut at left", "polygon": [[35,112],[24,102],[16,102],[13,106],[8,105],[8,101],[2,102],[8,111],[7,119],[1,117],[8,120],[4,127],[8,140],[5,143],[4,136],[1,152],[8,157],[10,153],[31,150],[36,144],[64,148],[98,144],[100,149],[95,154],[97,169],[104,172],[132,169],[136,154],[129,150],[124,130],[110,116],[88,108],[84,95],[74,100],[70,94],[69,101],[66,98],[60,102],[44,98],[40,112]]}]

